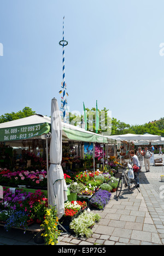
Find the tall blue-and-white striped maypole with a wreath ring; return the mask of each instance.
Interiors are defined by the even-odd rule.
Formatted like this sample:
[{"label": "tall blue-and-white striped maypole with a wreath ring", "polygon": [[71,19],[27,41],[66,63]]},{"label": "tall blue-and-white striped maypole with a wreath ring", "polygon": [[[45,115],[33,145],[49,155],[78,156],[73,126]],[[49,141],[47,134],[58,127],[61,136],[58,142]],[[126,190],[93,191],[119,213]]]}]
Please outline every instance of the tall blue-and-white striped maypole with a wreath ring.
[{"label": "tall blue-and-white striped maypole with a wreath ring", "polygon": [[[63,88],[63,96],[61,99],[61,109],[63,112],[63,121],[66,123],[66,105],[67,105],[67,101],[66,101],[66,81],[65,81],[65,46],[68,44],[68,42],[65,40],[65,30],[64,30],[64,20],[65,20],[65,16],[63,17],[63,39],[59,42],[60,45],[62,45],[63,47],[63,82],[62,82],[62,88]],[[62,93],[62,90],[60,90],[59,93]],[[68,95],[68,93],[67,93]]]}]

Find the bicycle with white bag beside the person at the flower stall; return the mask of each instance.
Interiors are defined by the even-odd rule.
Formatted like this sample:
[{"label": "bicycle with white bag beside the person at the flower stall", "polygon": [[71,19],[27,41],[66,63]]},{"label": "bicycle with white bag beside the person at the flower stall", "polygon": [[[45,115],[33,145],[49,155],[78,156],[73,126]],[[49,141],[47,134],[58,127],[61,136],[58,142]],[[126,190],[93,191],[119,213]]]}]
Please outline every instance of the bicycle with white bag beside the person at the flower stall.
[{"label": "bicycle with white bag beside the person at the flower stall", "polygon": [[[133,171],[131,164],[128,164],[128,167],[123,167],[123,172],[119,178],[119,182],[118,182],[118,187],[116,189],[116,199],[118,199],[118,197],[120,196],[121,190],[122,190],[122,184],[123,181],[125,180],[125,187],[128,187],[128,191],[133,191],[134,189],[138,189],[137,185],[137,180],[138,180],[138,176],[137,173],[134,172],[134,178],[131,179],[128,177],[128,174],[125,172],[126,169],[129,171],[130,169]],[[132,186],[134,185],[134,186]],[[140,191],[139,191],[140,192]]]}]

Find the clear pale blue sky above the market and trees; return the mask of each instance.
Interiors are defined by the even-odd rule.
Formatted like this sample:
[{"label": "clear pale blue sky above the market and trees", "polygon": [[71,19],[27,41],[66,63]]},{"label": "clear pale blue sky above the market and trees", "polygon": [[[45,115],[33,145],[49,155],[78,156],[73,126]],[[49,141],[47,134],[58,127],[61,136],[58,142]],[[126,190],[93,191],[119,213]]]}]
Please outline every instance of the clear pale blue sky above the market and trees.
[{"label": "clear pale blue sky above the market and trees", "polygon": [[[70,111],[106,107],[143,124],[164,117],[163,0],[0,0],[0,115],[60,106],[62,21]],[[164,51],[163,51],[164,52]]]}]

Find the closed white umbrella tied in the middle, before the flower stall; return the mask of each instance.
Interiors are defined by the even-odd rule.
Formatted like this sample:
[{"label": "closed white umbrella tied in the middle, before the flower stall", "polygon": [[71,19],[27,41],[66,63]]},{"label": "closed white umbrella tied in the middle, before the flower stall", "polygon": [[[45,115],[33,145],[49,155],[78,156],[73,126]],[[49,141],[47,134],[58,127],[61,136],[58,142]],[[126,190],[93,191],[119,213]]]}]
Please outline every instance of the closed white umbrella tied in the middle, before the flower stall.
[{"label": "closed white umbrella tied in the middle, before the flower stall", "polygon": [[50,141],[50,168],[49,168],[49,204],[56,206],[57,217],[65,214],[67,201],[67,185],[61,167],[62,161],[62,128],[61,117],[57,100],[51,100],[51,141]]}]

